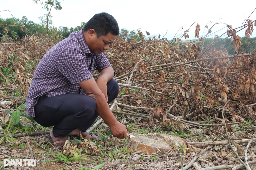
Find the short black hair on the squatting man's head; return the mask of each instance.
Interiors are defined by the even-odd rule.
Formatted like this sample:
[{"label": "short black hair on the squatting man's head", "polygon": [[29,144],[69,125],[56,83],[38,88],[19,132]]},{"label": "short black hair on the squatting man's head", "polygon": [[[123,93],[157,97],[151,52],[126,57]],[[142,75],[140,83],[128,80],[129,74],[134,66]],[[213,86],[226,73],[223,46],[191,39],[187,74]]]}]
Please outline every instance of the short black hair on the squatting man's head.
[{"label": "short black hair on the squatting man's head", "polygon": [[84,26],[83,31],[86,32],[90,29],[94,29],[99,38],[101,35],[106,36],[109,32],[113,35],[119,34],[118,23],[115,18],[106,13],[102,12],[95,14]]}]

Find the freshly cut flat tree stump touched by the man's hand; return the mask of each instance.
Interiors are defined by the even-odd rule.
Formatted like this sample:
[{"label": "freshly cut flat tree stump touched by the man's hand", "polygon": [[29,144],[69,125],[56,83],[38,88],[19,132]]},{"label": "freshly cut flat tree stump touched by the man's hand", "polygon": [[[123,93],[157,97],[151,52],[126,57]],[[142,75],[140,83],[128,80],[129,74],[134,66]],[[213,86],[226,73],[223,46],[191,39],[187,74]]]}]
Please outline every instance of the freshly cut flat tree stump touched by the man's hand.
[{"label": "freshly cut flat tree stump touched by the man's hand", "polygon": [[[193,148],[186,142],[186,140],[174,136],[164,134],[140,134],[131,135],[126,140],[126,146],[129,152],[141,151],[143,153],[159,153],[161,152],[184,152],[183,148],[186,148],[186,152],[190,152]],[[187,149],[189,148],[189,149]]]}]

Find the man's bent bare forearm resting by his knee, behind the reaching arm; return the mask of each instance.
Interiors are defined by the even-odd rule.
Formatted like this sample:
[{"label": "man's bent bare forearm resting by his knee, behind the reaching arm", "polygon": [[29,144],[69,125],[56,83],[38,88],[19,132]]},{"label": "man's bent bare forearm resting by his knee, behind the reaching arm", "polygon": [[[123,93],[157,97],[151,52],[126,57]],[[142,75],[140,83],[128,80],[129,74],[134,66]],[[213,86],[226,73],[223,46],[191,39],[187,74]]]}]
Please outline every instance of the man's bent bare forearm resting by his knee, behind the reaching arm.
[{"label": "man's bent bare forearm resting by his knee, behind the reaching arm", "polygon": [[113,67],[107,67],[101,70],[100,76],[97,79],[96,83],[101,90],[101,92],[104,94],[106,100],[108,101],[108,94],[107,94],[107,83],[112,80],[114,77],[114,70]]}]

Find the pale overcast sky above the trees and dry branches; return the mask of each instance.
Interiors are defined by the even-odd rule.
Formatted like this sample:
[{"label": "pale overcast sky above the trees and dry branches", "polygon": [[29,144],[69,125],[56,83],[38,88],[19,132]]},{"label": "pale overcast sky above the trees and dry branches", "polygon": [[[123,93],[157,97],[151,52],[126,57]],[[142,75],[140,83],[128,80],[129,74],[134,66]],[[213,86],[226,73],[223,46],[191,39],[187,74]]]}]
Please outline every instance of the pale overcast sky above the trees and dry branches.
[{"label": "pale overcast sky above the trees and dry branches", "polygon": [[[42,0],[41,0],[42,1]],[[45,0],[43,0],[45,1]],[[173,1],[173,0],[58,0],[61,10],[52,10],[52,26],[76,27],[87,22],[94,14],[107,12],[119,24],[120,29],[146,31],[150,36],[160,35],[171,40],[181,38],[188,30],[189,39],[195,39],[196,25],[200,25],[199,36],[206,36],[211,27],[211,35],[221,36],[227,31],[227,25],[233,29],[242,26],[249,18],[256,20],[255,0],[248,1]],[[9,11],[5,11],[9,10]],[[255,11],[254,11],[255,10]],[[254,12],[253,12],[254,11]],[[19,18],[26,16],[28,20],[40,23],[38,17],[48,11],[32,0],[0,0],[1,18]],[[217,24],[216,24],[217,23]],[[207,27],[206,27],[207,25]],[[239,29],[236,29],[238,31]],[[237,33],[245,35],[245,29]],[[226,34],[224,34],[226,36]],[[256,27],[251,37],[256,37]],[[184,38],[182,38],[184,39]],[[185,39],[184,39],[185,40]]]}]

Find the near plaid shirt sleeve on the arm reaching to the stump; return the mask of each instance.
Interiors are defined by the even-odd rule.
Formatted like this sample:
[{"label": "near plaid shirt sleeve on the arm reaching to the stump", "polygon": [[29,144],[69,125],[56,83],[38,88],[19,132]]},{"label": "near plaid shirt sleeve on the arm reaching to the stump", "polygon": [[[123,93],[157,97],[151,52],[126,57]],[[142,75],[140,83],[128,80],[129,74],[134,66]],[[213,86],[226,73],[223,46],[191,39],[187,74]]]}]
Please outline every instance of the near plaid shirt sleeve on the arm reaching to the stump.
[{"label": "near plaid shirt sleeve on the arm reaching to the stump", "polygon": [[71,84],[92,79],[92,74],[86,66],[85,56],[78,50],[68,49],[57,59],[57,69],[69,80]]}]

